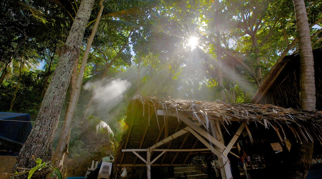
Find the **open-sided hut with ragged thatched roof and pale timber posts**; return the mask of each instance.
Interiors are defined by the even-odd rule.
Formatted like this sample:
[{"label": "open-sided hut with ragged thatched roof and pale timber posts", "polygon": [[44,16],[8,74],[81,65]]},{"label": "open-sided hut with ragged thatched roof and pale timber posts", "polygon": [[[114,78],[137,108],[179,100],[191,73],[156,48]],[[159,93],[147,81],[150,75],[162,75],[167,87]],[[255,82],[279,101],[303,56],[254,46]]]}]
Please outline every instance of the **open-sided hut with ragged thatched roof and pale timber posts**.
[{"label": "open-sided hut with ragged thatched roof and pale timber posts", "polygon": [[[128,129],[113,164],[115,178],[120,176],[122,167],[143,167],[134,172],[133,178],[142,177],[135,176],[137,173],[146,174],[148,179],[174,178],[154,171],[167,167],[169,174],[171,167],[187,166],[196,155],[212,159],[222,178],[232,178],[235,173],[241,176],[242,172],[248,178],[250,173],[256,175],[256,169],[267,173],[261,178],[271,178],[282,175],[279,154],[289,151],[293,142],[322,140],[321,112],[271,104],[137,95],[130,99],[126,123]],[[269,150],[266,153],[270,156],[264,159],[258,153],[251,155],[247,146],[257,143],[268,144],[259,151]],[[274,172],[270,168],[273,166]]]}]

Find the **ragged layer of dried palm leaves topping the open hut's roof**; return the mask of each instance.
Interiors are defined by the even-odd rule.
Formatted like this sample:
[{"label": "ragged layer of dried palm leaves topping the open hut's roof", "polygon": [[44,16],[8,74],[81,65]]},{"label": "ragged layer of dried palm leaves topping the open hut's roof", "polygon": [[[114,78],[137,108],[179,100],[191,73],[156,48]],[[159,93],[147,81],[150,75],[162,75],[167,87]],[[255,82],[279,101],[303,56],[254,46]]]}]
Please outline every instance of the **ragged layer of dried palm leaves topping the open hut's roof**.
[{"label": "ragged layer of dried palm leaves topping the open hut's roof", "polygon": [[[204,122],[205,128],[209,128],[209,120],[222,120],[223,125],[230,125],[232,121],[240,121],[245,124],[255,122],[256,125],[258,123],[267,128],[283,131],[279,133],[279,135],[284,135],[280,138],[286,139],[282,128],[284,125],[284,127],[290,128],[299,141],[322,141],[322,113],[318,111],[304,111],[269,104],[226,104],[219,100],[210,102],[142,95],[131,98],[131,101],[132,104],[140,103],[143,106],[151,106],[154,112],[163,110],[165,115],[171,109],[175,110],[176,114],[180,112],[190,114],[199,122]],[[249,130],[247,132],[250,134]],[[249,136],[251,137],[251,134]]]}]

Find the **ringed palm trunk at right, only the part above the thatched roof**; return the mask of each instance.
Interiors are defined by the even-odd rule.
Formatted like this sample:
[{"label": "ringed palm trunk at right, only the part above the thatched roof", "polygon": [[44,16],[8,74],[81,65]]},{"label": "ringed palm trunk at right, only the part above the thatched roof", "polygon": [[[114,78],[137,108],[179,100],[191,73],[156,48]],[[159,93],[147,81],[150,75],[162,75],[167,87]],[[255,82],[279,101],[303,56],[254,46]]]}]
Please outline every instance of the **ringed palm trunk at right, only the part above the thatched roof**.
[{"label": "ringed palm trunk at right, only the part above the thatched roof", "polygon": [[306,6],[304,0],[293,0],[293,3],[300,54],[300,105],[305,110],[315,111],[314,59]]}]

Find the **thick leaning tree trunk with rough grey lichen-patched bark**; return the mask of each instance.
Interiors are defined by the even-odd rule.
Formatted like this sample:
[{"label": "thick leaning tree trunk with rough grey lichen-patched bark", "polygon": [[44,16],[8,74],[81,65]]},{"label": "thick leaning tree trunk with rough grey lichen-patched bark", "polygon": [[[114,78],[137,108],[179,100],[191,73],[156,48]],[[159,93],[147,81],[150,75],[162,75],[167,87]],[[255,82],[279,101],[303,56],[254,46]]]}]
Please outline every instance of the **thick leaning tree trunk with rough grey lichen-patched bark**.
[{"label": "thick leaning tree trunk with rough grey lichen-patched bark", "polygon": [[[43,161],[51,160],[53,138],[57,130],[72,69],[76,61],[79,60],[81,41],[93,4],[94,0],[81,1],[71,31],[61,49],[59,61],[44,96],[42,107],[27,141],[17,156],[13,172],[19,170],[17,167],[32,168],[35,166],[32,155],[35,158],[41,158]],[[45,177],[45,175],[43,176]],[[27,178],[27,176],[21,175],[17,178]]]}]

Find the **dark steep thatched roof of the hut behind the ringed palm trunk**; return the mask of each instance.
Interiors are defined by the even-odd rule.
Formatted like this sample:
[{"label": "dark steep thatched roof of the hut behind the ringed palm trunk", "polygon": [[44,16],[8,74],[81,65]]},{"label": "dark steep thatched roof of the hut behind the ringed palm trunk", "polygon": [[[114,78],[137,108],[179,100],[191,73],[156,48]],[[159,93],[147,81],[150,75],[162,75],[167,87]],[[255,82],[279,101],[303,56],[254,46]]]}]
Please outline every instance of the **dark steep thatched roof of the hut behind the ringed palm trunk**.
[{"label": "dark steep thatched roof of the hut behind the ringed palm trunk", "polygon": [[[316,109],[322,110],[322,48],[313,50]],[[285,56],[264,76],[251,103],[299,108],[299,54]]]}]

